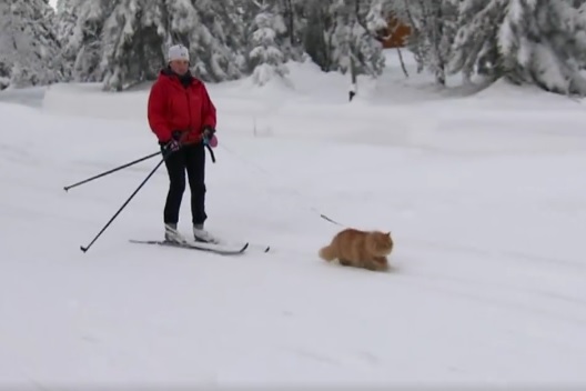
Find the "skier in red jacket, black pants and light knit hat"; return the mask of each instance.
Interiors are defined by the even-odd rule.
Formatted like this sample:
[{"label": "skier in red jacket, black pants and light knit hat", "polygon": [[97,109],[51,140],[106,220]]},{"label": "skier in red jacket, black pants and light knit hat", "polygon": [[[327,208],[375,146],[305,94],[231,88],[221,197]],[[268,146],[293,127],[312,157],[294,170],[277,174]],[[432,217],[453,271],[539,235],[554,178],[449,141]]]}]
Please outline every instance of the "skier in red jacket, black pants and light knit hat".
[{"label": "skier in red jacket, black pants and light knit hat", "polygon": [[169,48],[168,66],[151,87],[148,118],[159,146],[166,153],[169,191],[163,211],[164,238],[181,242],[179,211],[185,190],[185,171],[191,191],[193,237],[196,241],[218,243],[204,230],[205,146],[215,144],[216,112],[204,83],[190,70],[189,50],[182,44]]}]

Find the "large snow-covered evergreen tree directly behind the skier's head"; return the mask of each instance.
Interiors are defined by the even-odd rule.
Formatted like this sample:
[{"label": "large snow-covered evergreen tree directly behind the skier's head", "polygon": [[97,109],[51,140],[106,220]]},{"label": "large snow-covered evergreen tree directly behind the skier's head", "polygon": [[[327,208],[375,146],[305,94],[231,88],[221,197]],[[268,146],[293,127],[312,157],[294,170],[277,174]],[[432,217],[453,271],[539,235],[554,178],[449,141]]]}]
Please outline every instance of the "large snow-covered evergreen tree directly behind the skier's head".
[{"label": "large snow-covered evergreen tree directly behind the skier's head", "polygon": [[119,0],[105,21],[104,89],[152,80],[166,49],[190,50],[191,71],[206,81],[235,79],[245,68],[239,0]]}]

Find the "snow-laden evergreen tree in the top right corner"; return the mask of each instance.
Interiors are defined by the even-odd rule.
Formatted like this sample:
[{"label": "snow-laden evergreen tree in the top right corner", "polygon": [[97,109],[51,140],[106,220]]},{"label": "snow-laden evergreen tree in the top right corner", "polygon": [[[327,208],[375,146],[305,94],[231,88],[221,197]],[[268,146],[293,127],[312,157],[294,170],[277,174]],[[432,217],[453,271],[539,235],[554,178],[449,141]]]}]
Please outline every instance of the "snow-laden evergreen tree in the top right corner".
[{"label": "snow-laden evergreen tree in the top right corner", "polygon": [[498,36],[506,78],[586,94],[585,12],[580,0],[509,0]]}]

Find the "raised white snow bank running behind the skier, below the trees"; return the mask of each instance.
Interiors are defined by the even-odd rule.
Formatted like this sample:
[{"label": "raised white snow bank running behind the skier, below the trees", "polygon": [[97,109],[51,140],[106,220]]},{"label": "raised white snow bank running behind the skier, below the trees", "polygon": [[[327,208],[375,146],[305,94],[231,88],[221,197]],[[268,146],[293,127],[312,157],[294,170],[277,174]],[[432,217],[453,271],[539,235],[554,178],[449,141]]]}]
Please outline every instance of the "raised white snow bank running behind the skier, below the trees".
[{"label": "raised white snow bank running behind the skier, below the trees", "polygon": [[[220,134],[384,143],[472,154],[533,153],[552,151],[552,147],[564,152],[586,147],[579,130],[586,121],[582,103],[565,97],[502,81],[467,97],[451,90],[438,94],[422,89],[425,84],[416,76],[404,80],[393,69],[378,81],[362,78],[357,98],[348,102],[344,76],[324,74],[311,62],[287,67],[291,86],[272,81],[253,88],[251,80],[209,84],[218,106]],[[98,84],[53,86],[43,109],[137,121],[148,129],[146,99],[148,91],[104,93]],[[552,110],[564,116],[550,116]]]}]

